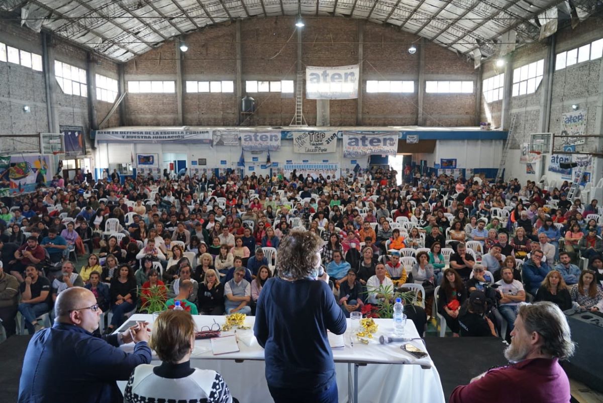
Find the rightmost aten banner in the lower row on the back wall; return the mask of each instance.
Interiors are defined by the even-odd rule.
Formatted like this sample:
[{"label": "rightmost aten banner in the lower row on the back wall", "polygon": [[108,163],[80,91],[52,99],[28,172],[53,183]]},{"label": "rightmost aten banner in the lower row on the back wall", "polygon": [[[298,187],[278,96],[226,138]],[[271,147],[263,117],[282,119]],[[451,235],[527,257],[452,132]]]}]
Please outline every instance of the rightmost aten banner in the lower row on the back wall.
[{"label": "rightmost aten banner in the lower row on the back wall", "polygon": [[346,158],[366,155],[396,155],[398,132],[382,132],[367,135],[359,132],[343,132],[343,156]]}]

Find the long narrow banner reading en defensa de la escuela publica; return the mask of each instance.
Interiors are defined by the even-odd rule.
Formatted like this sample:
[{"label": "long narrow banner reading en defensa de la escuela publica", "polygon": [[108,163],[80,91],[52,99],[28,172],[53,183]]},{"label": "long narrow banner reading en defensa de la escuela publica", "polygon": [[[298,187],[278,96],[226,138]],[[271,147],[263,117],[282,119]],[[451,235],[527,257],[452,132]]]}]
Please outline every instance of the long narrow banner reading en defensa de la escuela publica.
[{"label": "long narrow banner reading en defensa de la escuela publica", "polygon": [[96,130],[96,142],[211,144],[211,130]]}]

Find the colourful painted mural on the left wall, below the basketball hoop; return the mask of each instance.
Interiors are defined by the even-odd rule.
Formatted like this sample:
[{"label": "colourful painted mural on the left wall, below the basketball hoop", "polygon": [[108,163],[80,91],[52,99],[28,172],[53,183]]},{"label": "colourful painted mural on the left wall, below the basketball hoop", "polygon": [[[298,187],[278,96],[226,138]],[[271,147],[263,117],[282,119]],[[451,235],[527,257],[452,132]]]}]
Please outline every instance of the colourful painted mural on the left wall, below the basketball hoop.
[{"label": "colourful painted mural on the left wall, below the basketball hoop", "polygon": [[48,156],[13,156],[10,161],[10,192],[32,192],[36,183],[48,182]]}]

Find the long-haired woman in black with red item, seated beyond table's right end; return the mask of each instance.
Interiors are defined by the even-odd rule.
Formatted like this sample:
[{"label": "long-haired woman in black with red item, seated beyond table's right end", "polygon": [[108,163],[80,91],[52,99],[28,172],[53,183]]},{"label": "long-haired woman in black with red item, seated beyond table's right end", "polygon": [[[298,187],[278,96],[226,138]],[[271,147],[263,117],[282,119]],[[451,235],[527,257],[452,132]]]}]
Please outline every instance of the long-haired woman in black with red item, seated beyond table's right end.
[{"label": "long-haired woman in black with red item, seated beyond table's right end", "polygon": [[[444,270],[444,279],[438,290],[438,313],[446,319],[446,325],[452,330],[453,337],[458,337],[460,331],[459,309],[466,299],[467,288],[463,285],[463,280],[456,270],[453,268]],[[450,304],[453,300],[458,301],[458,304],[455,302]]]}]

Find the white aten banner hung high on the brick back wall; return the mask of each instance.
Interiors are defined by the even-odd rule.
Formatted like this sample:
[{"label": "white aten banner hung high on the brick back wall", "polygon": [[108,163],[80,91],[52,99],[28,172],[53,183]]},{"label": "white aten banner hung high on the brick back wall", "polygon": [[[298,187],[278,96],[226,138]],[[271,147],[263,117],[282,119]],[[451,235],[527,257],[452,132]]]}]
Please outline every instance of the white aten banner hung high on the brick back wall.
[{"label": "white aten banner hung high on the brick back wall", "polygon": [[359,65],[306,67],[306,98],[352,100],[358,98]]}]

